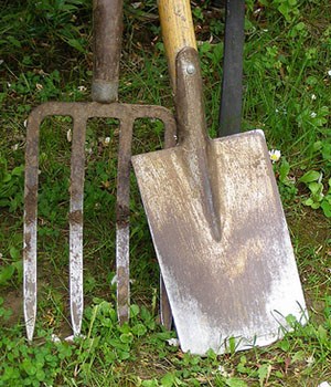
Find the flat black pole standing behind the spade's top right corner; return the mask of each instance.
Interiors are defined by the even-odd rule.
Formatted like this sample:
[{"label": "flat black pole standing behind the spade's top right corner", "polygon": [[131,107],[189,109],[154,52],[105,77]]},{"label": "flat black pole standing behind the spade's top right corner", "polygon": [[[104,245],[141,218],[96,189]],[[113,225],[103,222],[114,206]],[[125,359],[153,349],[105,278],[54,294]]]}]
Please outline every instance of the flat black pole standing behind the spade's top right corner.
[{"label": "flat black pole standing behind the spade's top right corner", "polygon": [[241,132],[245,0],[226,0],[218,136]]}]

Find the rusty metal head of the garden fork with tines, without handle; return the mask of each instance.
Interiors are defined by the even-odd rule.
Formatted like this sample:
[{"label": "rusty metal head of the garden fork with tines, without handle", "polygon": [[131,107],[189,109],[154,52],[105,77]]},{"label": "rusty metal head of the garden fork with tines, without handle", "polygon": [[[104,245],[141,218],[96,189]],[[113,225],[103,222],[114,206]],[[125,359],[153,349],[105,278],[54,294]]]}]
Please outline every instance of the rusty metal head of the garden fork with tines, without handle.
[{"label": "rusty metal head of the garden fork with tines, without handle", "polygon": [[[70,208],[70,281],[71,281],[71,315],[74,334],[81,331],[83,315],[83,194],[84,194],[84,160],[85,129],[88,118],[111,117],[120,121],[121,154],[119,156],[119,174],[121,185],[118,195],[120,207],[117,212],[117,228],[126,230],[118,249],[125,249],[119,257],[124,258],[120,268],[128,268],[128,206],[129,206],[129,159],[132,124],[137,118],[157,118],[163,122],[169,138],[174,136],[175,122],[173,114],[164,107],[152,105],[131,105],[113,103],[45,103],[32,111],[28,119],[25,149],[25,185],[24,185],[24,318],[28,339],[32,341],[36,318],[36,228],[38,228],[38,185],[39,185],[39,138],[40,126],[50,115],[71,116],[74,121],[72,172],[71,172],[71,208]],[[124,158],[124,159],[122,159]],[[125,190],[125,191],[124,191]],[[127,190],[127,191],[126,191]],[[125,285],[121,285],[119,296],[125,305],[128,301],[128,272],[125,272]]]}]

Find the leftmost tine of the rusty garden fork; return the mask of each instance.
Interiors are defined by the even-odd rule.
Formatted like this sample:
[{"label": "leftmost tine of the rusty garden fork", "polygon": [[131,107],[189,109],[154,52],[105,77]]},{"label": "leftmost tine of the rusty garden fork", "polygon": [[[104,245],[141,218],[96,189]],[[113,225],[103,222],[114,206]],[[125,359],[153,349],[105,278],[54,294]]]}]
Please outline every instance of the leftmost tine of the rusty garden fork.
[{"label": "leftmost tine of the rusty garden fork", "polygon": [[36,211],[39,115],[31,114],[26,128],[24,179],[23,310],[28,339],[31,342],[36,316]]}]

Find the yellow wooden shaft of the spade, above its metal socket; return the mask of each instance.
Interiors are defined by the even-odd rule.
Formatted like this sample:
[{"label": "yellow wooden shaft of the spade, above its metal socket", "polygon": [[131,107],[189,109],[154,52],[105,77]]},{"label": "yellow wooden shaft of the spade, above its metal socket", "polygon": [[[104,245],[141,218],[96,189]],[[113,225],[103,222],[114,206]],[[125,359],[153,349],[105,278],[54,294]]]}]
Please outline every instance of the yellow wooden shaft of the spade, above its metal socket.
[{"label": "yellow wooden shaft of the spade, above its metal socket", "polygon": [[186,46],[196,49],[190,0],[159,0],[159,14],[169,73],[175,90],[175,57]]}]

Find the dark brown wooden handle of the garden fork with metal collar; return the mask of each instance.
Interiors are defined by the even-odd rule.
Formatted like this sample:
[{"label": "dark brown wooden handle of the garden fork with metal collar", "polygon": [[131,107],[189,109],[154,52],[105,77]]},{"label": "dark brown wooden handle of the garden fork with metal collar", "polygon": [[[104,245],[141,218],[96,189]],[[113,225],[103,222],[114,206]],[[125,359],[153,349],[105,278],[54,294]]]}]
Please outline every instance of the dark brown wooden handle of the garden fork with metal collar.
[{"label": "dark brown wooden handle of the garden fork with metal collar", "polygon": [[122,33],[122,0],[94,0],[94,74],[92,98],[118,100],[118,75]]}]

